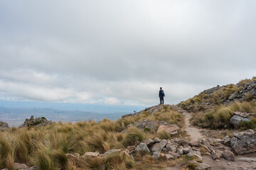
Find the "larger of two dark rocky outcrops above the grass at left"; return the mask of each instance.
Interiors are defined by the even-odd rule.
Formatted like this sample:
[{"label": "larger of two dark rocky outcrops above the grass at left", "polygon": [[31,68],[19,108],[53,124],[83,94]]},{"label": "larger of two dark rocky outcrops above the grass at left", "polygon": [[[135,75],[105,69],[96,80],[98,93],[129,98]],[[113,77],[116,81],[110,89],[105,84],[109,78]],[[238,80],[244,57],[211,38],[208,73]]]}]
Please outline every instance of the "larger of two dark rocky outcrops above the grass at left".
[{"label": "larger of two dark rocky outcrops above the grass at left", "polygon": [[28,127],[33,127],[33,126],[45,126],[45,125],[50,125],[52,124],[51,121],[47,120],[46,118],[33,118],[33,115],[31,118],[27,118],[25,122],[20,125],[18,128],[28,128]]}]

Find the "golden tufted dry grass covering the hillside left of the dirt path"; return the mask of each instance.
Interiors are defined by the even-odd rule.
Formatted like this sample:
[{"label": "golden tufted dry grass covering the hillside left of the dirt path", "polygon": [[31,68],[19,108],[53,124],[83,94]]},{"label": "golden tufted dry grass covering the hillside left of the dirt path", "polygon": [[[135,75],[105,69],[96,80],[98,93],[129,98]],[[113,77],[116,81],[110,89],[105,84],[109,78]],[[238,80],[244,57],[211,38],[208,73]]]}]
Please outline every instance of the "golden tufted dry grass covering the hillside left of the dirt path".
[{"label": "golden tufted dry grass covering the hillside left of the dirt path", "polygon": [[[36,165],[38,169],[49,170],[99,169],[102,165],[105,169],[144,169],[146,166],[144,162],[149,161],[145,158],[151,156],[138,159],[139,163],[136,163],[133,157],[128,157],[126,154],[111,154],[109,157],[90,158],[72,164],[65,155],[66,153],[82,155],[85,152],[104,153],[109,149],[123,149],[149,137],[159,137],[156,132],[141,131],[133,126],[127,129],[127,125],[144,118],[165,120],[183,126],[182,116],[172,110],[171,106],[164,106],[161,111],[152,114],[144,111],[135,117],[116,121],[104,119],[98,123],[84,121],[74,124],[59,122],[38,128],[12,128],[0,132],[0,169],[14,169],[14,162],[28,166]],[[121,133],[124,129],[126,129],[124,133]]]}]

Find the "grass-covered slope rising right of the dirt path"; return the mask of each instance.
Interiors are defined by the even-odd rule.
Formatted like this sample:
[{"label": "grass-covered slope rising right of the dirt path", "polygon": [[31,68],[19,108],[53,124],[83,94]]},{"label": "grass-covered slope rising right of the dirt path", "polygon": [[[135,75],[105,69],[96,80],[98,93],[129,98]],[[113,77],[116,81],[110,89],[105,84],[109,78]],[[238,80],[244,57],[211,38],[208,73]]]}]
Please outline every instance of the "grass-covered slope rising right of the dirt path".
[{"label": "grass-covered slope rising right of the dirt path", "polygon": [[[230,118],[235,111],[256,113],[255,98],[247,94],[247,98],[240,102],[232,102],[223,104],[228,97],[234,92],[238,92],[245,84],[254,81],[256,78],[245,79],[238,84],[228,84],[222,86],[219,91],[214,91],[212,94],[198,94],[187,101],[180,103],[181,108],[193,113],[191,122],[193,125],[198,125],[203,128],[233,128],[230,124]],[[252,118],[252,122],[243,123],[242,129],[255,128],[256,119]]]}]

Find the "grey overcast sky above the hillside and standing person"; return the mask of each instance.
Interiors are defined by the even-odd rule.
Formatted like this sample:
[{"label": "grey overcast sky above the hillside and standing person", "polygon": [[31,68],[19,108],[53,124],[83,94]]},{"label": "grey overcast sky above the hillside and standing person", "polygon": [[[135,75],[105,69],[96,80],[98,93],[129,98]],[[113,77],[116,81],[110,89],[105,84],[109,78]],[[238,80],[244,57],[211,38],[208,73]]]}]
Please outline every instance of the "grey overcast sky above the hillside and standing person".
[{"label": "grey overcast sky above the hillside and standing person", "polygon": [[0,99],[156,105],[256,76],[256,1],[0,1]]}]

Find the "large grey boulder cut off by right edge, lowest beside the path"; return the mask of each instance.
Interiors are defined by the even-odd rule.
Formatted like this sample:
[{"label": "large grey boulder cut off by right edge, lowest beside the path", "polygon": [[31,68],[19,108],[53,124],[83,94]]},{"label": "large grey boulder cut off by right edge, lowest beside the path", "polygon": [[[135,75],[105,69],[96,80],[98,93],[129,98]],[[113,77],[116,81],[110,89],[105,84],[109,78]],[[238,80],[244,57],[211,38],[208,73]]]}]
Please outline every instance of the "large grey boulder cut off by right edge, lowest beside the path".
[{"label": "large grey boulder cut off by right edge, lowest beside the path", "polygon": [[232,149],[237,154],[250,154],[256,152],[256,134],[253,130],[235,133],[230,140]]}]

